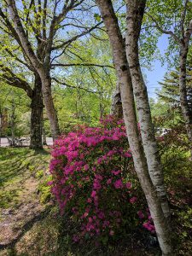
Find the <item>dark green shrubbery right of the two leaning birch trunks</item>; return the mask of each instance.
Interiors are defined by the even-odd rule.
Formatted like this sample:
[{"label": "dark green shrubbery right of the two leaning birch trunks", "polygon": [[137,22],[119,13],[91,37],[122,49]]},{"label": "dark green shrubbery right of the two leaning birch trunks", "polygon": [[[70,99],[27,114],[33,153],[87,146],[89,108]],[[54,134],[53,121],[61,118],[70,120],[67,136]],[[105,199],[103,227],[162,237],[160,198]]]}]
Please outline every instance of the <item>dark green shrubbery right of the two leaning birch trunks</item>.
[{"label": "dark green shrubbery right of the two leaning birch trunks", "polygon": [[189,143],[182,126],[172,127],[160,140],[160,154],[172,211],[172,234],[177,255],[192,249],[192,172]]}]

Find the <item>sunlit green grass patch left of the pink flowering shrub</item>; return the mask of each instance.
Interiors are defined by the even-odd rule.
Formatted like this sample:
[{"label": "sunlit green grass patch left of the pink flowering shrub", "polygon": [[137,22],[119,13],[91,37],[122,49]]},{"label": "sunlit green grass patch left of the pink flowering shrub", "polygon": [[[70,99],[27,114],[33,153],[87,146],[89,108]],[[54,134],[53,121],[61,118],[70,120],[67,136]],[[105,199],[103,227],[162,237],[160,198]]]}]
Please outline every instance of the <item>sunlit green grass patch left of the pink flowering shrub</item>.
[{"label": "sunlit green grass patch left of the pink flowering shrub", "polygon": [[26,180],[40,170],[46,175],[49,152],[29,148],[0,148],[0,207],[16,207]]}]

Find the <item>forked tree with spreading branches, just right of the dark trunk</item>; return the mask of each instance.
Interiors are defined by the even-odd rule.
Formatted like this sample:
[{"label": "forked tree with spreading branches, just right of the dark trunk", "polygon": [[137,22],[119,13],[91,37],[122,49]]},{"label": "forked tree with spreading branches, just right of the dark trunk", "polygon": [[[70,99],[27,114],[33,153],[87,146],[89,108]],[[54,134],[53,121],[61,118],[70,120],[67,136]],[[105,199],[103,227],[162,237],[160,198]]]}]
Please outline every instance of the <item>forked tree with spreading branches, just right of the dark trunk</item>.
[{"label": "forked tree with spreading branches, just right of the dark trunk", "polygon": [[[44,104],[49,117],[52,136],[59,135],[57,113],[51,94],[51,64],[65,52],[65,49],[77,38],[93,31],[101,23],[93,26],[82,25],[75,9],[81,1],[3,1],[0,16],[3,20],[3,32],[9,33],[22,49],[24,59],[31,69],[35,70],[42,82]],[[9,13],[7,13],[9,9]],[[86,11],[86,5],[82,10]],[[70,16],[70,11],[73,11]],[[72,22],[74,20],[74,22]],[[66,21],[66,23],[64,22]],[[78,32],[68,32],[64,40],[60,37],[60,30],[67,30],[66,26],[78,27]],[[71,35],[67,38],[67,35]],[[34,40],[35,39],[35,40]]]}]

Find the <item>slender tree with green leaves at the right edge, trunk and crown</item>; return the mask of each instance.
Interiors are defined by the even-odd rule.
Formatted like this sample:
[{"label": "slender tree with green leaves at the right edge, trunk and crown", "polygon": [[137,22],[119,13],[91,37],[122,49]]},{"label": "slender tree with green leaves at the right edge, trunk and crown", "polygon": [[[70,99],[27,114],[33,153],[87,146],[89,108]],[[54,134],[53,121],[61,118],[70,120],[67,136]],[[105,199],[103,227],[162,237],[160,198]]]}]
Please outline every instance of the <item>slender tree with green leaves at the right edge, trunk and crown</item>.
[{"label": "slender tree with green leaves at the right edge, trunk and crown", "polygon": [[[186,79],[187,59],[192,34],[192,2],[190,0],[148,1],[148,17],[160,33],[170,36],[170,48],[178,49],[179,92],[187,134],[192,154],[192,112],[190,111]],[[174,23],[173,23],[174,20]]]}]

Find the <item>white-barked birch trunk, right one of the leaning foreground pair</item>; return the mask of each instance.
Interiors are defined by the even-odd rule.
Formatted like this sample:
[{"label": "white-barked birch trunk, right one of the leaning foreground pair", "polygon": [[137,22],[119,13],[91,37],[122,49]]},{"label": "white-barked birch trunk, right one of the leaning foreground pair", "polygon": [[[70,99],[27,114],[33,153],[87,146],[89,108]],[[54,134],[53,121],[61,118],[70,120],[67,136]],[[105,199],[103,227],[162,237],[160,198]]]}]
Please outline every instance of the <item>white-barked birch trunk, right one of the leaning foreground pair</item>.
[{"label": "white-barked birch trunk, right one of the leaning foreground pair", "polygon": [[140,35],[143,13],[146,1],[127,1],[127,33],[125,38],[126,55],[131,71],[133,92],[137,103],[137,113],[140,123],[144,153],[148,162],[148,172],[154,187],[160,197],[161,206],[166,218],[170,217],[166,187],[160,164],[160,155],[154,136],[154,125],[151,119],[148,102],[148,92],[143,80],[138,53],[138,38]]}]

